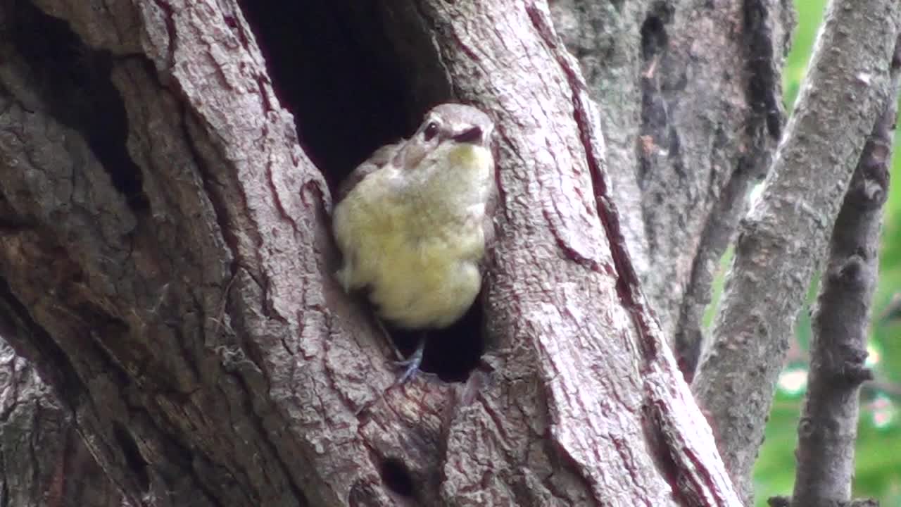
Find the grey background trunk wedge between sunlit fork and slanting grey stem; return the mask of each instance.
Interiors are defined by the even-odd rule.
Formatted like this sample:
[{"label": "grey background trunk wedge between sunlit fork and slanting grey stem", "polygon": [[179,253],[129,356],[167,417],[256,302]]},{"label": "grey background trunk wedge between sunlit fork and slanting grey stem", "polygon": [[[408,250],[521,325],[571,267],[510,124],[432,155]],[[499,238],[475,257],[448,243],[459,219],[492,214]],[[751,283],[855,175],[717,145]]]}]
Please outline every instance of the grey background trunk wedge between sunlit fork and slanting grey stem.
[{"label": "grey background trunk wedge between sunlit fork and slanting grey stem", "polygon": [[600,106],[642,288],[690,381],[714,272],[781,134],[790,2],[552,6]]}]

